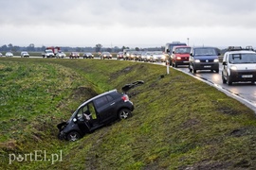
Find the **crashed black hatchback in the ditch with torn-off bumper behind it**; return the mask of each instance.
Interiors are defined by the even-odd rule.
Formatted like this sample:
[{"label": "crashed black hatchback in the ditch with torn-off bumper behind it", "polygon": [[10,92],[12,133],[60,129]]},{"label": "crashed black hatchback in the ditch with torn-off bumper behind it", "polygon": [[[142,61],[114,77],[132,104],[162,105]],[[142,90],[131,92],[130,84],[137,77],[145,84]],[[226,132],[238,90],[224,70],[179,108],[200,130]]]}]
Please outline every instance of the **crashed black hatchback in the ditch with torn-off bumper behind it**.
[{"label": "crashed black hatchback in the ditch with torn-off bumper behind it", "polygon": [[57,125],[59,128],[58,138],[77,141],[85,134],[100,127],[131,117],[134,104],[129,100],[127,92],[143,83],[143,81],[136,81],[126,84],[122,88],[123,93],[112,90],[85,101],[74,111],[68,121]]}]

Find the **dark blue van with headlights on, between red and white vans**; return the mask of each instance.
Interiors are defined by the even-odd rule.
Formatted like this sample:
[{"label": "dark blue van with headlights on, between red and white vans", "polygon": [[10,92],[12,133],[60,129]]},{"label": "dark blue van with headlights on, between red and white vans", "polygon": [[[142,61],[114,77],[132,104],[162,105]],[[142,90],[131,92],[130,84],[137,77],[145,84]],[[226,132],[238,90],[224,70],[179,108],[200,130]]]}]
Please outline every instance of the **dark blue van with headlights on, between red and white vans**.
[{"label": "dark blue van with headlights on, between red and white vans", "polygon": [[210,70],[219,73],[219,56],[220,54],[215,47],[192,47],[189,70],[196,73],[197,70]]}]

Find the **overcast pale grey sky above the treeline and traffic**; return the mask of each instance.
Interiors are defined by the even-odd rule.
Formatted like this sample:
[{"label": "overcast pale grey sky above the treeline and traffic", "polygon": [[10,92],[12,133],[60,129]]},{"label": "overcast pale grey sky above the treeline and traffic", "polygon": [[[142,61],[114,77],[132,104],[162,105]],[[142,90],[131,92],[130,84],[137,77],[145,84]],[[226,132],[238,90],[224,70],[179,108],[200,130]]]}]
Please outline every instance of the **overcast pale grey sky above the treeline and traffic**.
[{"label": "overcast pale grey sky above the treeline and traffic", "polygon": [[0,46],[256,47],[255,0],[0,0]]}]

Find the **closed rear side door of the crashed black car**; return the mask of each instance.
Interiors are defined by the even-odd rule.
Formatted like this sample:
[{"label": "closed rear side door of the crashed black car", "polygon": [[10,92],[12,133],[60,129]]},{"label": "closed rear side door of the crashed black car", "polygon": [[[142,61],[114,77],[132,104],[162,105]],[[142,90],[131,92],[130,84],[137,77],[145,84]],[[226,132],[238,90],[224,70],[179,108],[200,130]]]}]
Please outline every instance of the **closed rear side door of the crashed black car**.
[{"label": "closed rear side door of the crashed black car", "polygon": [[96,106],[100,124],[111,122],[117,117],[115,114],[116,102],[111,95],[107,94],[95,99],[94,104]]}]

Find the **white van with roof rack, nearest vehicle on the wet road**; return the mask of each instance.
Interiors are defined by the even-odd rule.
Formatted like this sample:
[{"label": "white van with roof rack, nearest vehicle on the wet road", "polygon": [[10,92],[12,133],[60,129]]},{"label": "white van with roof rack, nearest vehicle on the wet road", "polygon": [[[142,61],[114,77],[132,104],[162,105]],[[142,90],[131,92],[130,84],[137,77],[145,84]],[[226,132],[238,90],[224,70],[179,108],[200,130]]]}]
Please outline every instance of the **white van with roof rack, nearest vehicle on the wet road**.
[{"label": "white van with roof rack, nearest vehicle on the wet road", "polygon": [[222,82],[231,85],[233,82],[256,81],[256,53],[251,47],[229,46],[223,57]]}]

